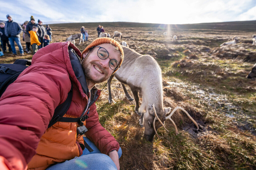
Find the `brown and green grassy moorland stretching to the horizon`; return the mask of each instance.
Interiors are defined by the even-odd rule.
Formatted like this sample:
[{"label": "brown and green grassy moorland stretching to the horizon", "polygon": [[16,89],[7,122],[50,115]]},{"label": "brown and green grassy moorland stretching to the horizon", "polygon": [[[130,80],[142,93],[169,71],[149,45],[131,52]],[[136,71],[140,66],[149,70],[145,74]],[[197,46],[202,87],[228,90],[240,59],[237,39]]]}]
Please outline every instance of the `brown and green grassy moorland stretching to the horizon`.
[{"label": "brown and green grassy moorland stretching to the horizon", "polygon": [[[53,42],[65,41],[84,26],[89,41],[77,45],[82,51],[97,37],[98,24],[52,24]],[[163,138],[146,141],[134,112],[135,102],[125,98],[121,84],[113,79],[116,104],[108,103],[107,88],[96,104],[101,124],[122,148],[120,169],[256,169],[256,82],[245,78],[256,61],[251,38],[255,21],[170,25],[169,37],[163,35],[166,25],[100,24],[110,34],[122,32],[121,41],[156,59],[162,69],[164,107],[183,107],[200,127],[197,131],[178,111],[172,116],[179,130],[177,136],[167,121],[170,132],[161,127],[158,134]],[[176,41],[173,35],[177,35]],[[220,47],[235,35],[237,44]],[[25,49],[24,42],[22,45]],[[12,63],[17,58],[31,59],[32,55],[12,57],[6,53],[0,63]],[[128,92],[132,95],[130,89]]]}]

